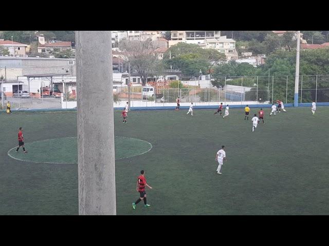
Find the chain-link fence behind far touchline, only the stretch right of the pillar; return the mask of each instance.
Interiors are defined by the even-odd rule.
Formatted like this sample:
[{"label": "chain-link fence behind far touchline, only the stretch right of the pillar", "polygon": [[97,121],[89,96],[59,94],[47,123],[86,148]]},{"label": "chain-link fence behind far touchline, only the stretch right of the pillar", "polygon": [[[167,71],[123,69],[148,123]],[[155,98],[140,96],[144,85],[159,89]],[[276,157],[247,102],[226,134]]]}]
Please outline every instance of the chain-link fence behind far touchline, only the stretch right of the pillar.
[{"label": "chain-link fence behind far touchline, only the stretch right of the pillar", "polygon": [[[280,99],[294,103],[295,76],[212,77],[209,80],[181,80],[182,88],[131,87],[131,100],[160,104],[221,103],[272,104]],[[154,86],[155,85],[155,86]],[[153,88],[153,89],[152,89]],[[148,91],[143,91],[148,90]],[[154,90],[154,91],[151,91]],[[128,88],[117,90],[119,100],[127,101]],[[329,75],[299,76],[299,103],[329,102]],[[150,104],[151,106],[151,104]]]}]

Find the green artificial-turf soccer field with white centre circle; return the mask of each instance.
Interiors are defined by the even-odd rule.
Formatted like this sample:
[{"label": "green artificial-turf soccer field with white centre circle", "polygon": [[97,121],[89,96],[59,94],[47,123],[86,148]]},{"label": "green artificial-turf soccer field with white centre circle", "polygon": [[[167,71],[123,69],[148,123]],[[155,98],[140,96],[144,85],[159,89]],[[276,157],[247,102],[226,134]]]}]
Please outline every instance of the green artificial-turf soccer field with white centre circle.
[{"label": "green artificial-turf soccer field with white centre circle", "polygon": [[[117,214],[329,214],[329,107],[270,117],[266,108],[265,125],[251,132],[258,110],[248,121],[243,109],[225,119],[215,110],[131,111],[127,124],[115,111]],[[2,113],[0,124],[0,214],[78,214],[77,113]],[[27,154],[11,150],[19,127]],[[222,145],[227,161],[218,175]],[[151,207],[133,210],[141,169]]]}]

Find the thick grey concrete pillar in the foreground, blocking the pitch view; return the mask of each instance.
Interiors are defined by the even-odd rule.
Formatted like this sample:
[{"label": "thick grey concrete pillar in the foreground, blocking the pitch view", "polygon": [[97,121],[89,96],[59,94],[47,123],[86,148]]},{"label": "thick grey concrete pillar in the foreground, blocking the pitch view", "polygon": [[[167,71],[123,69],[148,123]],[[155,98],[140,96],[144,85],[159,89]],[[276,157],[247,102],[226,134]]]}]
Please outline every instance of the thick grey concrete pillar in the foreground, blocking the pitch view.
[{"label": "thick grey concrete pillar in the foreground, blocking the pitch view", "polygon": [[76,31],[79,215],[116,215],[111,31]]}]

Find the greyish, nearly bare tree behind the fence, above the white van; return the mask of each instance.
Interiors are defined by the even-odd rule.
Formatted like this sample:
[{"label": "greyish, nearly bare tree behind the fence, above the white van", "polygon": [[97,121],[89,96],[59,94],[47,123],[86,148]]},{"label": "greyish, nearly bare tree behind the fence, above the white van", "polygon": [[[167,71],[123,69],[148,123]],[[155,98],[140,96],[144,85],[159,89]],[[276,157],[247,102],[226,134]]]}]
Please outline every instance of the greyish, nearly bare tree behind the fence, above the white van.
[{"label": "greyish, nearly bare tree behind the fence, above the white van", "polygon": [[141,77],[144,86],[147,83],[148,76],[156,72],[156,66],[159,64],[155,49],[152,46],[152,40],[149,38],[142,42],[122,39],[119,42],[119,49],[126,53],[131,69]]}]

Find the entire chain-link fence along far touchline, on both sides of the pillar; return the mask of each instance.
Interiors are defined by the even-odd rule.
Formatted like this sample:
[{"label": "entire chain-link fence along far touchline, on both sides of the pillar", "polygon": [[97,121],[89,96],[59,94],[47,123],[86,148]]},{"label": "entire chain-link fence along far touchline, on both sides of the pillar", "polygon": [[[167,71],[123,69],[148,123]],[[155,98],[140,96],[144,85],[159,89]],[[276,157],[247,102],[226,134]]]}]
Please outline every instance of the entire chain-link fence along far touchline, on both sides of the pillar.
[{"label": "entire chain-link fence along far touchline, on both sides of the pillar", "polygon": [[[242,76],[209,77],[208,80],[192,78],[176,83],[179,88],[170,88],[170,83],[152,82],[146,86],[118,86],[114,91],[114,107],[124,107],[129,101],[131,107],[172,106],[180,98],[181,103],[199,105],[272,104],[280,99],[294,103],[295,76]],[[166,86],[165,86],[166,85]],[[76,84],[66,84],[64,92],[57,96],[2,97],[2,109],[10,101],[12,109],[54,109],[77,107]],[[299,76],[298,103],[329,102],[329,75]]]}]

